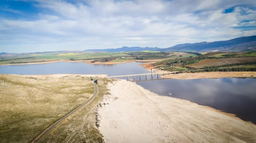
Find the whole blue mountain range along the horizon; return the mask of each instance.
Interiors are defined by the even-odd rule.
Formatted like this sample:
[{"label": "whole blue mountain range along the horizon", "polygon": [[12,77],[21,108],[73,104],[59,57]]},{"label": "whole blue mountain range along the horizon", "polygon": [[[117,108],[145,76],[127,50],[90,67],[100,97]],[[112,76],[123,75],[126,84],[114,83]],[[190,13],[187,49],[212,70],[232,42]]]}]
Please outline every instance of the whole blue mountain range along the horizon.
[{"label": "whole blue mountain range along the horizon", "polygon": [[227,41],[215,41],[215,42],[199,42],[199,43],[185,43],[178,44],[169,48],[149,48],[149,47],[122,47],[116,49],[90,49],[85,51],[105,51],[105,52],[121,52],[121,51],[143,51],[143,50],[159,50],[159,51],[196,51],[196,52],[235,52],[235,51],[247,51],[256,50],[256,35],[239,37],[230,39]]}]

